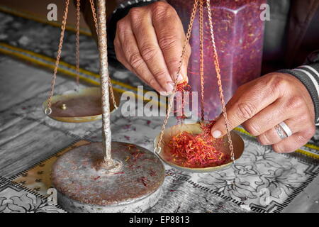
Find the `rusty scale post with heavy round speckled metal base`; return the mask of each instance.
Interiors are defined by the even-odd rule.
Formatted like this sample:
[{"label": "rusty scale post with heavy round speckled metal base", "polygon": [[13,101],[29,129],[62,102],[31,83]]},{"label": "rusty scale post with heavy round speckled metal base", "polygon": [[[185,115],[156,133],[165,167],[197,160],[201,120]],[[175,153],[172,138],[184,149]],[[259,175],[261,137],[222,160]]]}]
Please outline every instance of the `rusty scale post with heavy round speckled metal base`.
[{"label": "rusty scale post with heavy round speckled metal base", "polygon": [[162,192],[164,165],[138,145],[111,142],[105,0],[97,1],[102,99],[102,143],[62,155],[52,167],[57,203],[69,212],[141,212]]}]

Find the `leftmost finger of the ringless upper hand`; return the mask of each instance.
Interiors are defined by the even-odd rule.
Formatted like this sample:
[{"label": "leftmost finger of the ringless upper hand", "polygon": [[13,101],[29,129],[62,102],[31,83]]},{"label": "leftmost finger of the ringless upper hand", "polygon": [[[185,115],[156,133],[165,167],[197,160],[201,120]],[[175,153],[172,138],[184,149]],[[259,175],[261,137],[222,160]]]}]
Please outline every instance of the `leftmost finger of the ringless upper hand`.
[{"label": "leftmost finger of the ringless upper hand", "polygon": [[140,51],[138,50],[138,44],[130,28],[130,23],[118,21],[116,36],[114,43],[118,60],[157,92],[161,94],[166,92],[155,77],[153,77],[152,72],[150,72],[142,59]]}]

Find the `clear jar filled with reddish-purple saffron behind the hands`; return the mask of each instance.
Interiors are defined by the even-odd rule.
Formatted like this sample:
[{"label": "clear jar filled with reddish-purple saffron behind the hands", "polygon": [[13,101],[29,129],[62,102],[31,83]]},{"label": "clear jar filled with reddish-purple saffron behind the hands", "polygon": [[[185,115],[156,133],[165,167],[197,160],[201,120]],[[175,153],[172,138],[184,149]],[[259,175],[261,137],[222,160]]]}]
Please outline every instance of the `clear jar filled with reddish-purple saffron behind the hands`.
[{"label": "clear jar filled with reddish-purple saffron behind the hands", "polygon": [[[168,2],[176,9],[186,31],[194,1],[169,0]],[[262,13],[260,6],[265,2],[265,0],[211,1],[216,49],[226,102],[229,101],[241,84],[260,76],[264,33],[264,22],[260,18],[260,13]],[[192,91],[198,92],[198,114],[200,114],[201,83],[199,73],[200,35],[198,11],[189,42],[192,50],[188,68],[189,84]],[[206,1],[204,1],[203,8],[203,49],[204,116],[205,119],[213,119],[220,114],[221,104],[216,69],[213,62],[213,47]]]}]

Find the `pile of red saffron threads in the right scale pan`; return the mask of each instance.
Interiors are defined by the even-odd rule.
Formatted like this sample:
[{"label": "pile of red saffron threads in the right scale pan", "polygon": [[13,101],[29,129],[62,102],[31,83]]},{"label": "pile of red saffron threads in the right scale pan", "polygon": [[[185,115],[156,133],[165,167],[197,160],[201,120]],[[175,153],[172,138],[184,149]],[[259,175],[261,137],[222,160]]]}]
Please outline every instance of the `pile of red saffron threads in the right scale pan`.
[{"label": "pile of red saffron threads in the right scale pan", "polygon": [[169,141],[170,153],[175,164],[192,167],[216,167],[230,160],[230,155],[216,149],[216,145],[223,143],[221,138],[213,138],[211,126],[215,121],[201,123],[202,133],[192,134],[181,131]]}]

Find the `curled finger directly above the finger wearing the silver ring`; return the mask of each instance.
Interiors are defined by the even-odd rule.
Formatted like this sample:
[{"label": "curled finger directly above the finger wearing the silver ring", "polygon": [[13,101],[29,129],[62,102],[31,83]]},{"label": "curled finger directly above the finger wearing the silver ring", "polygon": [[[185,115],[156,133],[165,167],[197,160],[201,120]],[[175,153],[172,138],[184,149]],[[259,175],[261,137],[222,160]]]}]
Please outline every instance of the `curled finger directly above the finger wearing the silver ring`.
[{"label": "curled finger directly above the finger wearing the silver ring", "polygon": [[[289,105],[289,104],[288,104]],[[251,135],[257,136],[262,133],[269,131],[271,128],[274,128],[277,124],[281,123],[286,119],[296,116],[296,114],[301,113],[302,110],[293,109],[291,106],[285,104],[281,99],[277,99],[274,103],[267,106],[262,111],[259,111],[255,116],[248,119],[242,126],[248,131]]]}]

